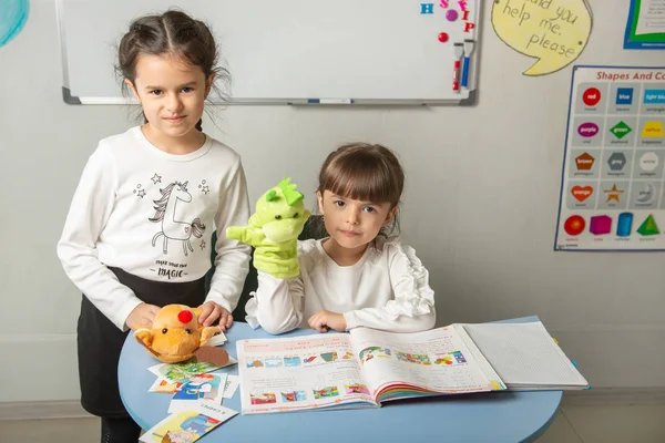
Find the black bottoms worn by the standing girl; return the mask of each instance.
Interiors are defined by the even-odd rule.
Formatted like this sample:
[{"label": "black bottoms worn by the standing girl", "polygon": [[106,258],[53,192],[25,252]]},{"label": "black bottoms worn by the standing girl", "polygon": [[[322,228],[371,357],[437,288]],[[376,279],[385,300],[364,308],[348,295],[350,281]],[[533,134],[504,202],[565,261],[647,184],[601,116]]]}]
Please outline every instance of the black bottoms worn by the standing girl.
[{"label": "black bottoms worn by the standing girl", "polygon": [[[109,269],[121,284],[131,288],[136,297],[150,305],[163,307],[182,303],[197,307],[205,300],[204,278],[186,282],[152,281],[122,269]],[[76,332],[81,405],[91,414],[101,418],[129,419],[117,388],[117,361],[129,331],[117,329],[84,296]]]}]

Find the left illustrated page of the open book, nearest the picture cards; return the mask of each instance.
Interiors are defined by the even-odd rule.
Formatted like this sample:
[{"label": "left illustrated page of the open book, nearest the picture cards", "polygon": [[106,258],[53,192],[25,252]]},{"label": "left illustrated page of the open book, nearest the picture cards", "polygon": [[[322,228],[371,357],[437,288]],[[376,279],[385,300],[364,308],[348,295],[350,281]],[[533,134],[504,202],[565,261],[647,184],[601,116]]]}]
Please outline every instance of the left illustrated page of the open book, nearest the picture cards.
[{"label": "left illustrated page of the open book, nearest the picture cards", "polygon": [[236,347],[243,414],[376,406],[347,333],[239,340]]}]

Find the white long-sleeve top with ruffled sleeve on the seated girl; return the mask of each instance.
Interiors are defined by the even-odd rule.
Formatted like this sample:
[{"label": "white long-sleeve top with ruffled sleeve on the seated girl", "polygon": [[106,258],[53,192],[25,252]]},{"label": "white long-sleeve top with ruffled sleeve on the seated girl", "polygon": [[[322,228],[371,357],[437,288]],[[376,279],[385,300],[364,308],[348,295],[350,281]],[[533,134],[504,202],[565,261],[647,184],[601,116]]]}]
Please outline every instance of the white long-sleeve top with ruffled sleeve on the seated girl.
[{"label": "white long-sleeve top with ruffled sleeve on the seated girl", "polygon": [[321,309],[344,313],[347,329],[415,332],[434,326],[434,292],[413,248],[398,237],[379,237],[355,265],[339,266],[323,241],[298,241],[298,277],[258,271],[258,288],[245,308],[253,328],[269,333],[308,328]]}]

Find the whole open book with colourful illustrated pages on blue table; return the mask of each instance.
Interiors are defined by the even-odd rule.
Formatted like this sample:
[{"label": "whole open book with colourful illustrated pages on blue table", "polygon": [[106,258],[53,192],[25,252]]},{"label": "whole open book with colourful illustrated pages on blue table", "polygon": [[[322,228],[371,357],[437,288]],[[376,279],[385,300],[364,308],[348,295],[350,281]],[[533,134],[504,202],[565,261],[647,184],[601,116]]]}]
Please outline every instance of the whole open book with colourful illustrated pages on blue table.
[{"label": "whole open book with colourful illustrated pages on blue table", "polygon": [[451,324],[415,333],[357,328],[238,340],[236,347],[243,414],[587,387],[541,322]]}]

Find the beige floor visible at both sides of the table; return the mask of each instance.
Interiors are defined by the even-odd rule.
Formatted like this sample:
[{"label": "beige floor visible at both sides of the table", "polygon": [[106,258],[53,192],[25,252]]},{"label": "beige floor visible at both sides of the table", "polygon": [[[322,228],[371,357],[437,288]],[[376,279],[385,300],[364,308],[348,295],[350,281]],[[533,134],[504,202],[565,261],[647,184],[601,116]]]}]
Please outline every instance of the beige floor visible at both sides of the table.
[{"label": "beige floor visible at both sides of the table", "polygon": [[[0,421],[0,442],[98,442],[96,419]],[[538,443],[663,443],[665,404],[567,405]],[[491,442],[490,442],[491,443]]]}]

